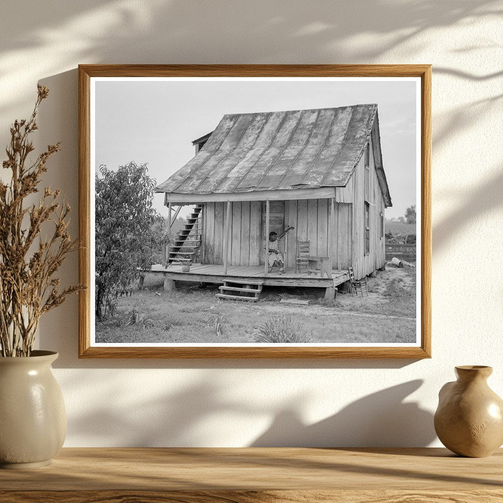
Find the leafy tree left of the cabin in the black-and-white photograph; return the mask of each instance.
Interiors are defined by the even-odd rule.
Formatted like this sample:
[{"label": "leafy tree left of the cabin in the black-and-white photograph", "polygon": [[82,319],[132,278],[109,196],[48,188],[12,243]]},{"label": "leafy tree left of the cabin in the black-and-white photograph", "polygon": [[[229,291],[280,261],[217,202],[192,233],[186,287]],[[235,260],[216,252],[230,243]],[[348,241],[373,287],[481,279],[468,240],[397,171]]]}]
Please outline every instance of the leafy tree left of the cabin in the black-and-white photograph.
[{"label": "leafy tree left of the cabin in the black-and-white photograph", "polygon": [[131,161],[96,175],[96,316],[113,310],[117,292],[130,288],[138,268],[160,260],[163,218],[152,207],[155,180]]}]

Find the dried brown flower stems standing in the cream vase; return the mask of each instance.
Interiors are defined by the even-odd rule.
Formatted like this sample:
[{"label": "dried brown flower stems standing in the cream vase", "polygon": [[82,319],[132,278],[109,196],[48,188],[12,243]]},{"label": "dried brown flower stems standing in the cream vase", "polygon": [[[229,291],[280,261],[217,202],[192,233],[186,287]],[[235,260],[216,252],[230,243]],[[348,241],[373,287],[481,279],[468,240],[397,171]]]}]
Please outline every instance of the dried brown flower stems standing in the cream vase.
[{"label": "dried brown flower stems standing in the cream vase", "polygon": [[[40,317],[64,302],[68,294],[83,288],[73,285],[59,290],[54,274],[67,254],[77,249],[68,235],[71,208],[56,202],[61,191],[45,187],[39,204],[24,207],[25,199],[39,192],[47,159],[60,143],[48,145],[34,162],[35,149],[29,135],[36,129],[38,107],[49,90],[38,86],[38,98],[29,120],[16,120],[6,148],[4,169],[11,170],[9,184],[0,181],[0,345],[3,357],[30,356]],[[42,237],[44,223],[54,225],[52,237]]]}]

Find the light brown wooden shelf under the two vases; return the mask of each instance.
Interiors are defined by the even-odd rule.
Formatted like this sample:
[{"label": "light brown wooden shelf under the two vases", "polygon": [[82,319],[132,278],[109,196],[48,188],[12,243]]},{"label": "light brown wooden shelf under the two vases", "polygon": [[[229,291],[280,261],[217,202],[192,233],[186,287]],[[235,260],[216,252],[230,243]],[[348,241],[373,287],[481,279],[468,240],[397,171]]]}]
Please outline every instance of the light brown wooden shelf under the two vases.
[{"label": "light brown wooden shelf under the two vases", "polygon": [[63,449],[0,470],[2,503],[503,501],[503,449]]}]

